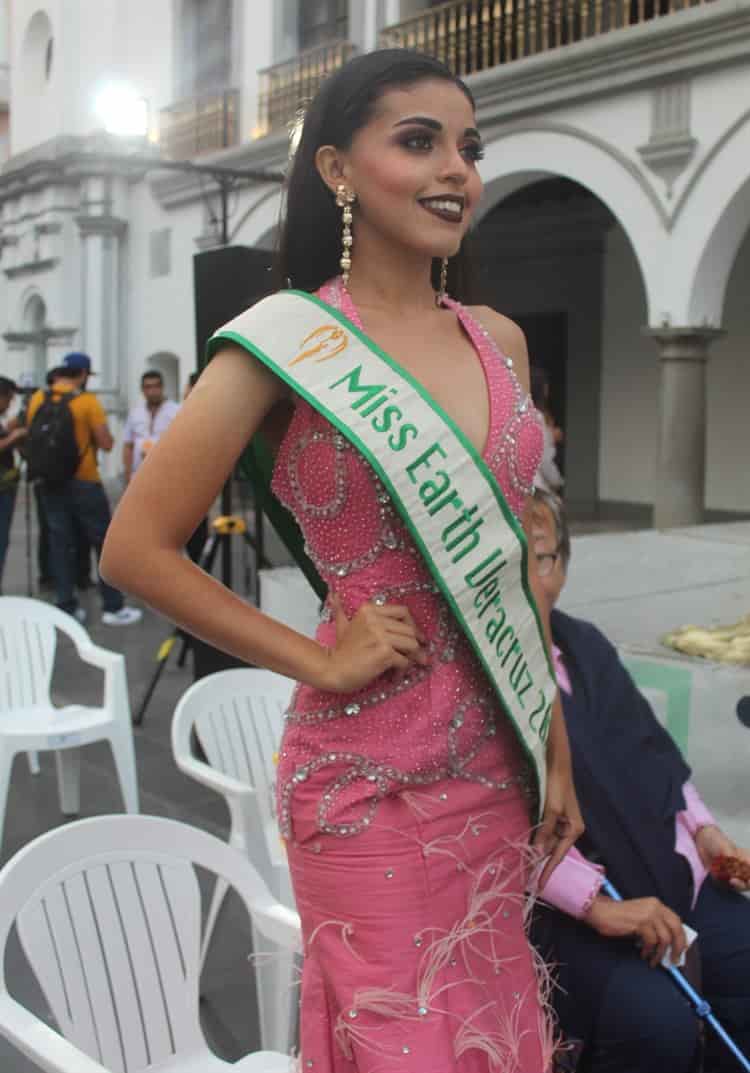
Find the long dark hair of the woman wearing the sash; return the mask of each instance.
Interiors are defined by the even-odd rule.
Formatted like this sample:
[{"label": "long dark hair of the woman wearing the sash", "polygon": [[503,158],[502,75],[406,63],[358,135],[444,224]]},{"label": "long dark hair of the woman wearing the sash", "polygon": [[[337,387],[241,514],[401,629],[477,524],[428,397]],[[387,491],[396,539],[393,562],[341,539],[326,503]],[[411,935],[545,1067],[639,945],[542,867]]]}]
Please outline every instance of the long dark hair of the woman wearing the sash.
[{"label": "long dark hair of the woman wearing the sash", "polygon": [[[277,288],[317,291],[340,271],[341,210],[315,165],[322,145],[347,149],[358,130],[372,117],[379,98],[388,89],[411,86],[428,78],[451,82],[466,94],[469,87],[444,63],[407,48],[383,48],[356,56],[328,75],[305,116],[299,145],[286,182],[285,216],[276,260]],[[448,264],[448,293],[469,298],[466,239]],[[438,286],[440,261],[432,262],[432,283]]]}]

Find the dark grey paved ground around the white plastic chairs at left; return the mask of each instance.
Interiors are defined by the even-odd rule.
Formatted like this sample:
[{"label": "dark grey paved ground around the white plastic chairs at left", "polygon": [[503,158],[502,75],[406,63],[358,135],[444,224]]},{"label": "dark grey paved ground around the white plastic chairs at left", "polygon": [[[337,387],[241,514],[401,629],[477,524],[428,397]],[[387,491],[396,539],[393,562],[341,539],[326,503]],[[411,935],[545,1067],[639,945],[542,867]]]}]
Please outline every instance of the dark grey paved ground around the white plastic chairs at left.
[{"label": "dark grey paved ground around the white plastic chairs at left", "polygon": [[[23,490],[21,490],[23,493]],[[33,525],[33,518],[32,518]],[[35,532],[32,532],[35,549]],[[235,576],[244,577],[240,549],[236,548]],[[16,505],[12,543],[3,577],[5,596],[27,594],[26,526],[23,494]],[[35,561],[33,584],[35,588]],[[36,593],[34,593],[36,594]],[[43,593],[52,599],[52,593]],[[159,645],[171,632],[167,622],[150,611],[137,626],[106,627],[100,622],[100,601],[95,590],[82,594],[89,613],[87,629],[97,644],[126,656],[130,701],[137,710],[145,685],[150,680]],[[175,766],[170,746],[172,714],[180,695],[192,682],[191,661],[177,666],[177,646],[173,649],[157,691],[146,712],[144,724],[135,730],[135,748],[141,789],[141,811],[171,817],[225,837],[229,817],[223,799],[183,776]],[[59,644],[53,691],[56,703],[101,703],[103,675],[86,667],[64,638]],[[1,862],[21,846],[52,827],[67,822],[57,800],[53,753],[41,755],[42,771],[33,777],[26,756],[17,756],[5,813]],[[93,745],[83,750],[80,815],[98,815],[122,809],[119,788],[108,746]],[[201,1013],[206,1038],[215,1052],[227,1061],[236,1061],[259,1046],[255,985],[252,967],[250,928],[238,901],[227,900],[215,932],[202,983]],[[50,1019],[24,954],[15,939],[5,960],[11,993],[29,1009]],[[2,1073],[34,1073],[31,1065],[0,1039]]]}]

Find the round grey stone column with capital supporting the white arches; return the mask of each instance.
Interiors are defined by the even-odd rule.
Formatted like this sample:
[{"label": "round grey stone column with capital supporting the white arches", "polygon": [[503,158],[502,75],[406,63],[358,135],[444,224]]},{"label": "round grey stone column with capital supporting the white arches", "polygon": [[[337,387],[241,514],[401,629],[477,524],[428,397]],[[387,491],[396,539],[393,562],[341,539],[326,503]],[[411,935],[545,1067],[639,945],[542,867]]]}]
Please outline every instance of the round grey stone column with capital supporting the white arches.
[{"label": "round grey stone column with capital supporting the white arches", "polygon": [[703,521],[706,474],[706,361],[724,333],[709,327],[647,328],[659,348],[657,529]]}]

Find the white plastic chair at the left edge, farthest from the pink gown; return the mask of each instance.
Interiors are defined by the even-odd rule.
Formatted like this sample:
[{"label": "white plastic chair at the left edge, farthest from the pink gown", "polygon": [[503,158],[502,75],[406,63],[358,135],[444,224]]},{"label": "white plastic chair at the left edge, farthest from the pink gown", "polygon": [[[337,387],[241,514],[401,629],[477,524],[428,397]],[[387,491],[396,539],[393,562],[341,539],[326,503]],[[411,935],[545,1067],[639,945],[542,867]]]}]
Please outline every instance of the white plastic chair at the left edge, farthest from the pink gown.
[{"label": "white plastic chair at the left edge, farthest from the pink gown", "polygon": [[[67,634],[78,657],[104,671],[101,708],[79,704],[53,706],[49,684],[56,630]],[[71,615],[23,597],[0,597],[0,842],[13,758],[17,752],[56,753],[60,809],[75,814],[80,806],[79,746],[106,739],[128,812],[138,810],[135,749],[130,718],[124,657],[94,645]]]}]

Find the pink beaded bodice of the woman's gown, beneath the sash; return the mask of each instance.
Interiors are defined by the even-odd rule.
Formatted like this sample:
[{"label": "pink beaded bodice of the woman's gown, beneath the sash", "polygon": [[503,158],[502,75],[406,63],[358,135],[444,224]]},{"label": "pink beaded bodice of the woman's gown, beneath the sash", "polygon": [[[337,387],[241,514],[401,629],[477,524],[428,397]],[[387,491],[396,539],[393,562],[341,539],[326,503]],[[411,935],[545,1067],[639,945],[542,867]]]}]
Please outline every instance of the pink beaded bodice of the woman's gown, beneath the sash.
[{"label": "pink beaded bodice of the woman's gown, beneath the sash", "polygon": [[[333,280],[324,302],[362,322],[348,291]],[[543,450],[541,417],[487,330],[448,298],[474,346],[489,394],[489,435],[483,457],[519,516]],[[318,829],[356,834],[380,797],[447,777],[491,784],[513,781],[519,753],[495,718],[496,705],[447,604],[368,464],[307,402],[296,400],[279,449],[273,487],[296,517],[306,548],[349,616],[368,600],[407,604],[426,634],[428,667],[402,680],[388,675],[356,694],[299,686],[286,717],[279,765],[282,832],[292,834],[294,797],[314,783]],[[324,614],[318,640],[335,628]],[[504,762],[498,767],[498,746]],[[499,773],[499,774],[498,774]],[[294,815],[294,834],[300,833]]]}]

